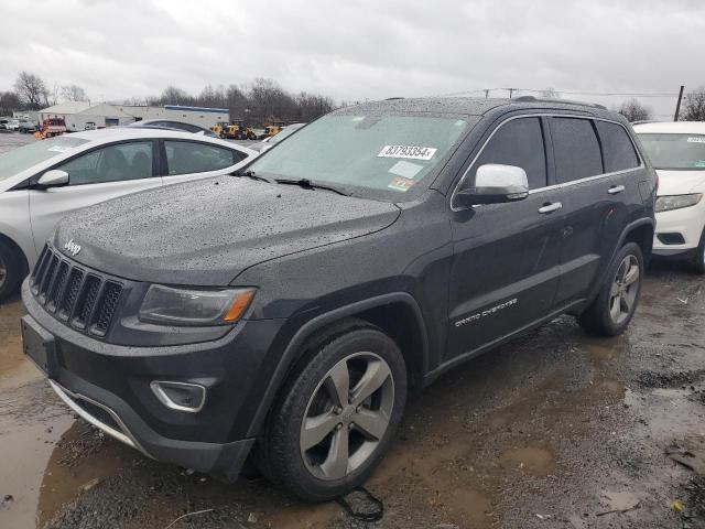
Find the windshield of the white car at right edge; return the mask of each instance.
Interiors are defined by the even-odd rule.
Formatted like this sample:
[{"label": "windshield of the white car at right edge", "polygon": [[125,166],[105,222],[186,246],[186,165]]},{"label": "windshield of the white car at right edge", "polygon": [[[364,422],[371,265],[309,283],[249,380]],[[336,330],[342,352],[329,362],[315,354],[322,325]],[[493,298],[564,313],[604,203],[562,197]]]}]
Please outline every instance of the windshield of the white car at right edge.
[{"label": "windshield of the white car at right edge", "polygon": [[705,170],[705,134],[639,134],[655,169]]}]

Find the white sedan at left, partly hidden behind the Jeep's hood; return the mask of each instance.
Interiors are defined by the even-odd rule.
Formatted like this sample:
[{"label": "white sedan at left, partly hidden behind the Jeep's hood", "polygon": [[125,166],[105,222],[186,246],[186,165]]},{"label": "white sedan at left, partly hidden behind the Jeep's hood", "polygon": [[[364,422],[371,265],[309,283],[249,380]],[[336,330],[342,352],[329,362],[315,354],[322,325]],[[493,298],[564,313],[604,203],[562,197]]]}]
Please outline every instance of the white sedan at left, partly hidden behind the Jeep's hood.
[{"label": "white sedan at left, partly hidden behind the Jeep's hood", "polygon": [[0,154],[0,300],[32,269],[73,210],[161,185],[228,174],[257,152],[188,132],[115,128]]}]

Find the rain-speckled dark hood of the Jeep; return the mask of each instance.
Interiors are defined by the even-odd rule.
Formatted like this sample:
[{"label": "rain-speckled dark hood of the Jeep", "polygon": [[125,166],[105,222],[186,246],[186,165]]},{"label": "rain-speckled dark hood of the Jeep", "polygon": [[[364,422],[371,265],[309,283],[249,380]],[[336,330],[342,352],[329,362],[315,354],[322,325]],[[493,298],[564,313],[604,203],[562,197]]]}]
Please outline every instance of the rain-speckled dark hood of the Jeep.
[{"label": "rain-speckled dark hood of the Jeep", "polygon": [[80,251],[72,259],[127,279],[226,285],[259,262],[383,229],[399,213],[390,203],[224,176],[83,209],[62,220],[54,246],[66,252],[73,239]]}]

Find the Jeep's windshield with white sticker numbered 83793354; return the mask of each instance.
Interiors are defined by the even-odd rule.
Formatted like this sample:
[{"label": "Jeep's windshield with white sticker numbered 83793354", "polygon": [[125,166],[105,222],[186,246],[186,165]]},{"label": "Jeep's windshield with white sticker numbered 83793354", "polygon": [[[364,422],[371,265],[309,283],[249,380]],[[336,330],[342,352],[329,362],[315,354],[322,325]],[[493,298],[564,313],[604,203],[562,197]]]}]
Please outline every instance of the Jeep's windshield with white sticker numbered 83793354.
[{"label": "Jeep's windshield with white sticker numbered 83793354", "polygon": [[248,170],[373,191],[397,199],[421,187],[467,131],[464,119],[417,116],[326,116],[301,129]]}]

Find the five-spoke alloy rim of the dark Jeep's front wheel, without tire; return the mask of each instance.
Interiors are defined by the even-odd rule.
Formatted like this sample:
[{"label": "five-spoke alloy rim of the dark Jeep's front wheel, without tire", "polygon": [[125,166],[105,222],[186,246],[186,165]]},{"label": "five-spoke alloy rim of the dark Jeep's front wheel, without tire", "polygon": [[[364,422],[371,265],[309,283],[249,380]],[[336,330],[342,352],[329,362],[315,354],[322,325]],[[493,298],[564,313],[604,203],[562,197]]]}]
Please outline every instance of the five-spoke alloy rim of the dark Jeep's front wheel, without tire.
[{"label": "five-spoke alloy rim of the dark Jeep's front wheel, without tire", "polygon": [[318,382],[301,424],[301,456],[319,479],[341,479],[365,464],[389,428],[394,380],[384,359],[355,353]]}]

